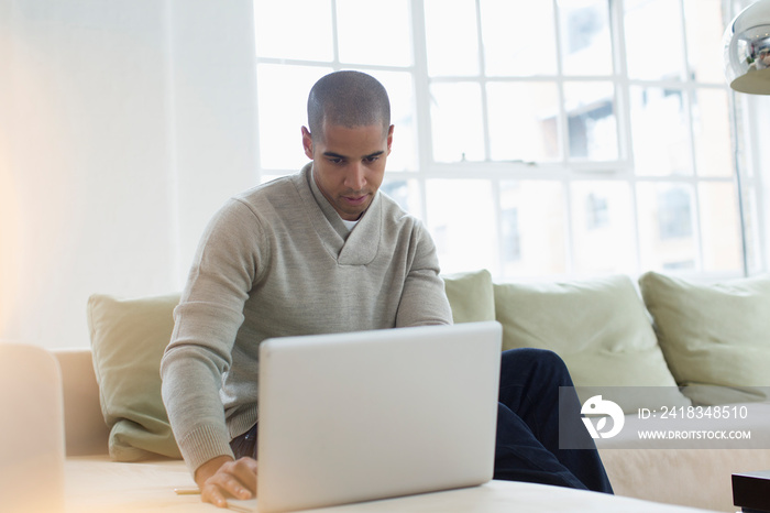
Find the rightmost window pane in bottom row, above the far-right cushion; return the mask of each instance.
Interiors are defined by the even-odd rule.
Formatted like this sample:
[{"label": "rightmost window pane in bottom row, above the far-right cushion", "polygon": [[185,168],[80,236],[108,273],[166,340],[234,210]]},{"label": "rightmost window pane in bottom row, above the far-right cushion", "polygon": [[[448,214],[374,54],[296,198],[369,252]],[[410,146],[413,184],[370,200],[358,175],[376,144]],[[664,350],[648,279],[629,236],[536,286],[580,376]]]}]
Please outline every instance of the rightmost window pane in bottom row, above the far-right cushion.
[{"label": "rightmost window pane in bottom row, above the far-right cushion", "polygon": [[701,237],[704,271],[740,271],[740,220],[733,183],[702,183]]}]

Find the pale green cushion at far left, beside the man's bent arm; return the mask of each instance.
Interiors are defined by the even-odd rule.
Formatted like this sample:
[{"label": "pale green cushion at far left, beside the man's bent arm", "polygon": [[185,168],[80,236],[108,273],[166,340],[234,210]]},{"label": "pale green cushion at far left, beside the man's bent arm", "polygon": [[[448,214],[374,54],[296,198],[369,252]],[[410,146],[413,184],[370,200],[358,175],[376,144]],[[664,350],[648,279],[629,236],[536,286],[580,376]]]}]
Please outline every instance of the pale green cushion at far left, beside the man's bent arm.
[{"label": "pale green cushion at far left, beside the man's bent arm", "polygon": [[114,460],[180,458],[160,374],[178,303],[178,294],[140,299],[95,294],[88,299],[94,369]]}]

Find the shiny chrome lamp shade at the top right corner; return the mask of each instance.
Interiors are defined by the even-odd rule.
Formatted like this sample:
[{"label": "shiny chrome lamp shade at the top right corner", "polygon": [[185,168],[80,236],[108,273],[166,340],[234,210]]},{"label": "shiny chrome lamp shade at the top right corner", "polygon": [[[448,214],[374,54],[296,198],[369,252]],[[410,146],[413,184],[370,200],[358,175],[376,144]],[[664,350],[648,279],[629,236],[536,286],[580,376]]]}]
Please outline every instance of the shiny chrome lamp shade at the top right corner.
[{"label": "shiny chrome lamp shade at the top right corner", "polygon": [[725,76],[740,92],[770,95],[770,0],[744,9],[725,31]]}]

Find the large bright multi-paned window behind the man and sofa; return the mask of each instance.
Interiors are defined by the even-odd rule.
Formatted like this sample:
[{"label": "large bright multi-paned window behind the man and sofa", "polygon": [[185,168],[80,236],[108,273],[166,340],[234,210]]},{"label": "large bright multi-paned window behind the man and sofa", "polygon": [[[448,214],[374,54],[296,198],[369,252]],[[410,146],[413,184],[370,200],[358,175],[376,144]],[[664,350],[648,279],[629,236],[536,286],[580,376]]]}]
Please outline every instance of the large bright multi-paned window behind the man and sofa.
[{"label": "large bright multi-paned window behind the man and sofa", "polygon": [[[254,11],[261,179],[307,162],[299,127],[318,78],[374,75],[396,125],[383,192],[424,219],[444,272],[738,275],[741,234],[761,245],[736,189],[722,0],[254,0]],[[752,179],[743,192],[756,204]]]}]

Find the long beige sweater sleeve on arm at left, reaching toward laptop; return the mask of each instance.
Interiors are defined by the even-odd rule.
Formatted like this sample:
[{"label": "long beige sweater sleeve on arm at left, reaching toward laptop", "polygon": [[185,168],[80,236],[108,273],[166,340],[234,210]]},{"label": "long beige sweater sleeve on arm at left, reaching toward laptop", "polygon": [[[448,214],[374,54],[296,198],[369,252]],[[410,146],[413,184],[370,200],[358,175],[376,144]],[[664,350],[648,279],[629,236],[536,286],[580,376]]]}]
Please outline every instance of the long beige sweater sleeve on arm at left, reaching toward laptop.
[{"label": "long beige sweater sleeve on arm at left, reaching toward laptop", "polygon": [[231,200],[210,221],[161,362],[163,401],[190,471],[217,456],[233,456],[219,391],[232,363],[243,305],[270,254],[254,212]]}]

